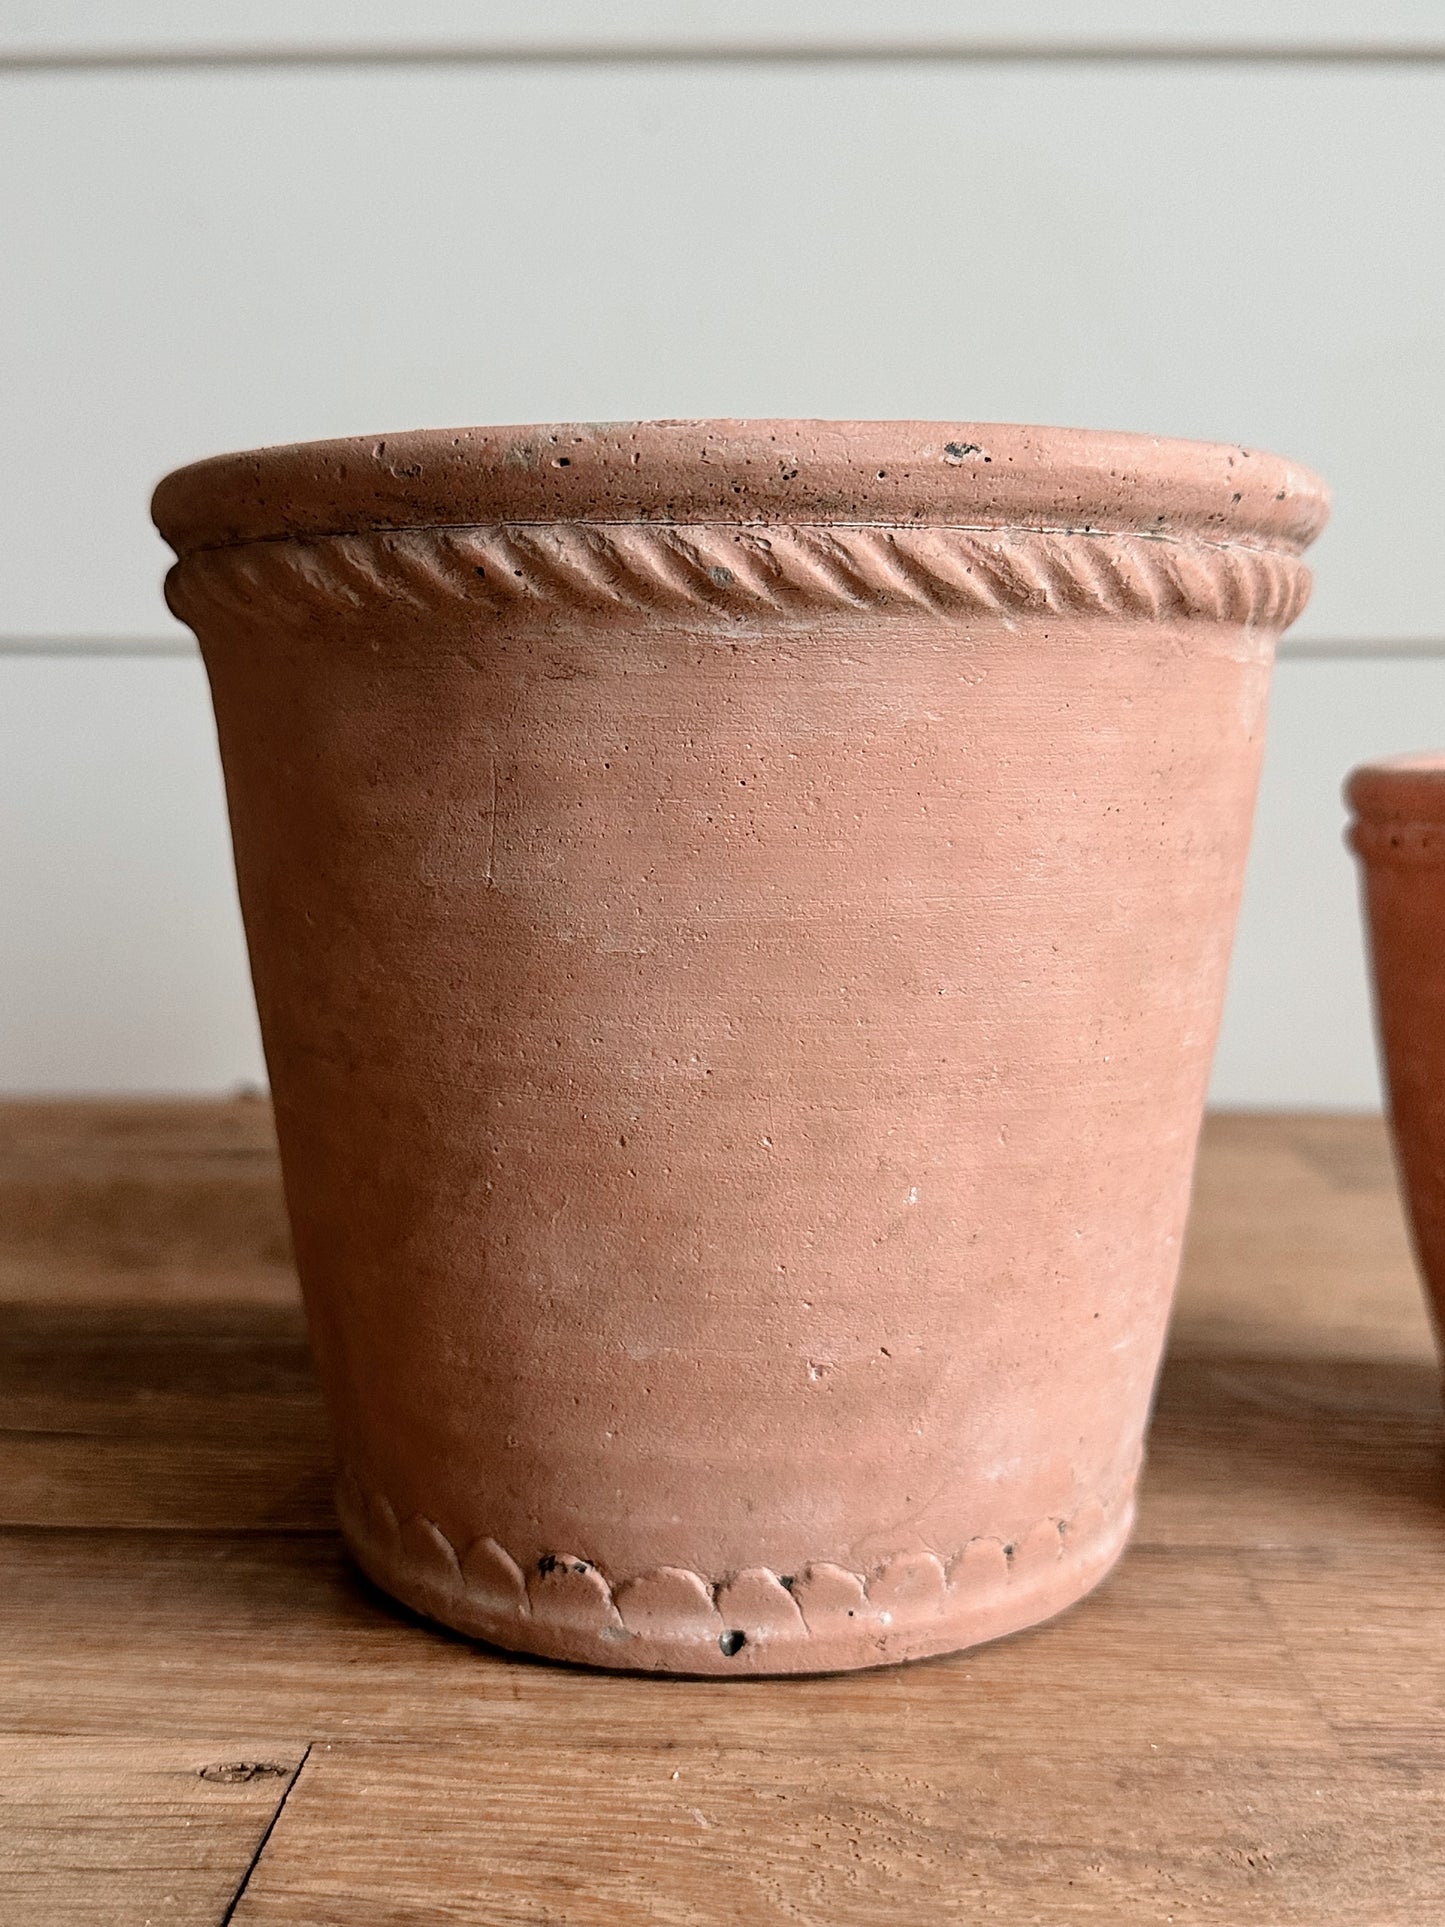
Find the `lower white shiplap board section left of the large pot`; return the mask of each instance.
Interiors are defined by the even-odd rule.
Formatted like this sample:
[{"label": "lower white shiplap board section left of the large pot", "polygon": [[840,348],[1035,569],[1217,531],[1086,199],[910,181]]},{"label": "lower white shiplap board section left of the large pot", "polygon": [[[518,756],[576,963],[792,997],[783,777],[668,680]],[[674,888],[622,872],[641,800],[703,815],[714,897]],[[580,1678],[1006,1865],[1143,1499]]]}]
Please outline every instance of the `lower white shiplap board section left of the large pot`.
[{"label": "lower white shiplap board section left of the large pot", "polygon": [[198,661],[0,657],[0,1093],[262,1079]]}]

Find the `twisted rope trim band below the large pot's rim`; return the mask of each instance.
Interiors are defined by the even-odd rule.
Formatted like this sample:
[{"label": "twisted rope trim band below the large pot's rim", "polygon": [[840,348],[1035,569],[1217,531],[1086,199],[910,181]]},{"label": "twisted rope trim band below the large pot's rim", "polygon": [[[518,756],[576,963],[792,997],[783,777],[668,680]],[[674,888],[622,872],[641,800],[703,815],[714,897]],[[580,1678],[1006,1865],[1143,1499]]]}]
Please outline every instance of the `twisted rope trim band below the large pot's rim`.
[{"label": "twisted rope trim band below the large pot's rim", "polygon": [[374,605],[428,617],[630,611],[719,622],[827,613],[1204,617],[1281,630],[1295,555],[1092,530],[547,522],[407,528],[197,549],[166,597],[193,626],[308,622]]}]

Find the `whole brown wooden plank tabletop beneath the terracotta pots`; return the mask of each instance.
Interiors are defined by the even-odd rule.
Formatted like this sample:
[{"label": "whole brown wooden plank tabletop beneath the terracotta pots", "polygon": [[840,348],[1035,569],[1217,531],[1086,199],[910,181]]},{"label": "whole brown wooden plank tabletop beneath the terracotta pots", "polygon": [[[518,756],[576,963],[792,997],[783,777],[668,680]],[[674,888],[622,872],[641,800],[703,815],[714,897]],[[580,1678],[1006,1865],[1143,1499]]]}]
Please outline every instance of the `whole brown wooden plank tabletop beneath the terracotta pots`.
[{"label": "whole brown wooden plank tabletop beneath the terracotta pots", "polygon": [[1141,1524],[888,1673],[570,1673],[331,1526],[266,1106],[0,1108],[0,1919],[1445,1921],[1437,1370],[1372,1120],[1216,1118]]}]

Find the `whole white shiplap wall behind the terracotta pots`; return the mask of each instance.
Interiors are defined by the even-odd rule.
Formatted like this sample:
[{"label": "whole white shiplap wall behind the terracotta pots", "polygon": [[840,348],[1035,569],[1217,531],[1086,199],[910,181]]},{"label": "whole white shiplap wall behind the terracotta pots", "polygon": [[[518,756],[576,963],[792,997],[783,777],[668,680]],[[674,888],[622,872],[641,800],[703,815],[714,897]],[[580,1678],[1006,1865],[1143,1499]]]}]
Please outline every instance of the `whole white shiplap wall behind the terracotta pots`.
[{"label": "whole white shiplap wall behind the terracotta pots", "polygon": [[200,671],[106,653],[185,647],[162,470],[906,414],[1333,482],[1216,1098],[1376,1102],[1337,788],[1445,738],[1445,17],[1021,12],[0,8],[0,1089],[260,1077]]}]

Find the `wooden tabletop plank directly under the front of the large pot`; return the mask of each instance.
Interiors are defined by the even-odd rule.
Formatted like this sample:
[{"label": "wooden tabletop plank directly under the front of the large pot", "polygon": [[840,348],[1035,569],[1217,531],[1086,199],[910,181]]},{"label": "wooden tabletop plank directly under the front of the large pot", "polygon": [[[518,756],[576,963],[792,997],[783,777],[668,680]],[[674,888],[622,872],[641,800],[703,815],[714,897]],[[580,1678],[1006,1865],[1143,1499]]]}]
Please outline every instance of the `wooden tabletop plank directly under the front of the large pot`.
[{"label": "wooden tabletop plank directly under the front of the large pot", "polygon": [[919,1667],[757,1684],[570,1673],[422,1630],[329,1536],[12,1532],[0,1559],[0,1703],[15,1730],[245,1725],[464,1744],[511,1742],[541,1721],[578,1757],[605,1757],[661,1721],[719,1746],[811,1734],[844,1754],[907,1754],[921,1734],[973,1746],[1017,1723],[1035,1732],[1056,1705],[1100,1752],[1171,1736],[1329,1744],[1299,1655],[1237,1553],[1139,1547],[1046,1628]]}]

